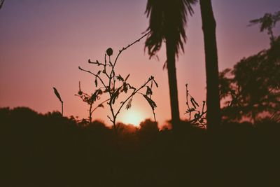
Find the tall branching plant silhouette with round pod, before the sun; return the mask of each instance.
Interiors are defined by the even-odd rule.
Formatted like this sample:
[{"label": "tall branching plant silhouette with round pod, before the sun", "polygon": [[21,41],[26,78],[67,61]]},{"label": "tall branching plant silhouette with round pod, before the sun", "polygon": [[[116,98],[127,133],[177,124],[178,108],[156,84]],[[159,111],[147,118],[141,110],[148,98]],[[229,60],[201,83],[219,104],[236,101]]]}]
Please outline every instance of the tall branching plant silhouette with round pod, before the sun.
[{"label": "tall branching plant silhouette with round pod, before the sun", "polygon": [[[104,63],[99,62],[96,60],[95,62],[92,62],[91,60],[88,60],[88,63],[94,64],[97,67],[102,67],[97,71],[97,73],[93,73],[92,71],[85,70],[81,67],[78,67],[81,71],[85,71],[89,74],[92,74],[94,76],[94,84],[97,90],[90,96],[85,95],[83,92],[80,93],[80,97],[85,99],[85,102],[92,105],[94,102],[99,99],[99,96],[101,96],[103,93],[107,94],[109,96],[109,99],[106,101],[107,104],[110,107],[111,116],[107,116],[111,123],[113,123],[113,130],[116,134],[118,134],[118,124],[116,123],[116,119],[118,117],[118,114],[120,113],[121,109],[123,109],[123,106],[125,106],[125,109],[130,109],[132,106],[132,100],[134,95],[140,94],[143,95],[143,97],[147,100],[148,104],[150,104],[151,109],[153,110],[154,120],[155,120],[155,107],[156,104],[151,98],[151,95],[153,94],[153,83],[158,87],[158,83],[155,82],[155,79],[153,76],[148,78],[148,80],[141,85],[139,88],[135,88],[130,83],[127,82],[128,78],[130,77],[130,74],[128,74],[125,78],[121,76],[120,74],[116,73],[116,63],[118,62],[118,57],[120,57],[120,54],[123,53],[124,50],[132,46],[134,43],[139,42],[141,39],[143,39],[145,36],[147,36],[148,33],[144,34],[144,36],[141,36],[140,39],[137,39],[137,41],[134,41],[133,43],[130,43],[125,48],[122,48],[119,50],[119,53],[114,60],[114,62],[111,62],[111,56],[113,55],[113,49],[108,48],[105,53],[104,57]],[[109,58],[109,61],[107,61]],[[151,85],[148,85],[148,83],[151,83]],[[101,86],[98,86],[101,85]],[[142,89],[146,88],[146,93],[140,92]],[[127,97],[123,99],[119,104],[119,106],[116,106],[118,103],[118,98],[121,93],[127,94]]]}]

